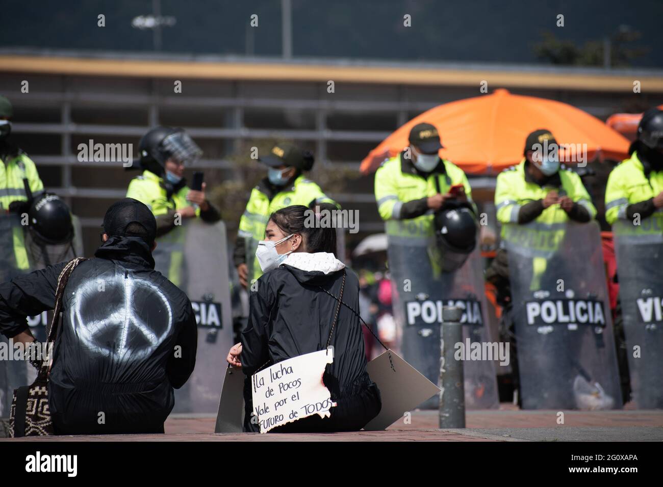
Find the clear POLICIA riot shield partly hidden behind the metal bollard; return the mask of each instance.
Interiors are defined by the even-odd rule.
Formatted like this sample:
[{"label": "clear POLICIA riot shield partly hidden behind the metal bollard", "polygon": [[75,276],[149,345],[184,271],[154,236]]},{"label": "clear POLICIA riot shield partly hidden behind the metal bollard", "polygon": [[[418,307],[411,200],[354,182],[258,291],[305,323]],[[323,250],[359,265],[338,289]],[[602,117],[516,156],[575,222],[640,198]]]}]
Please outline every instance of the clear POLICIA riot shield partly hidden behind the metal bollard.
[{"label": "clear POLICIA riot shield partly hidden behind the metal bollard", "polygon": [[[454,344],[463,360],[467,409],[499,406],[495,362],[471,354],[472,349],[494,343],[487,327],[483,268],[475,250],[456,272],[442,271],[442,256],[432,226],[421,222],[387,221],[392,302],[400,354],[428,380],[440,378],[440,325],[442,307],[455,305],[463,312],[463,343]],[[477,345],[478,344],[478,345]],[[420,407],[437,409],[438,398]]]}]

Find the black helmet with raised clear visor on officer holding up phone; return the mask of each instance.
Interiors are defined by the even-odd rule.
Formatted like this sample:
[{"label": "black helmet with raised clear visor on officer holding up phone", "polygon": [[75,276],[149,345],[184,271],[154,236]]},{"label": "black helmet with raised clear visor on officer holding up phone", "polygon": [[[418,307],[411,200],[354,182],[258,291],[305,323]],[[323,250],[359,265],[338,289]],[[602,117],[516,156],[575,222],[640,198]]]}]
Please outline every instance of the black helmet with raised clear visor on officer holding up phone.
[{"label": "black helmet with raised clear visor on officer holding up phone", "polygon": [[168,159],[186,164],[202,156],[202,150],[184,129],[172,127],[155,127],[143,135],[138,149],[141,153],[141,167],[157,176],[164,175]]}]

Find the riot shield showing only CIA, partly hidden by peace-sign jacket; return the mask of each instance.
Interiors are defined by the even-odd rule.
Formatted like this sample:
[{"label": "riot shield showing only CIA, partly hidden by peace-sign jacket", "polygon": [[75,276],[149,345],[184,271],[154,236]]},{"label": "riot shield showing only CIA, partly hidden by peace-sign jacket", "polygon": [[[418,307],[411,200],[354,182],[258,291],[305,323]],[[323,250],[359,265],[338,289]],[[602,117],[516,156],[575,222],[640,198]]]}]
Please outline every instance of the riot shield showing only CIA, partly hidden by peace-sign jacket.
[{"label": "riot shield showing only CIA, partly hidden by peace-sign jacket", "polygon": [[157,239],[156,270],[186,293],[198,323],[196,368],[175,391],[174,413],[214,413],[233,345],[227,241],[222,221],[185,220]]}]

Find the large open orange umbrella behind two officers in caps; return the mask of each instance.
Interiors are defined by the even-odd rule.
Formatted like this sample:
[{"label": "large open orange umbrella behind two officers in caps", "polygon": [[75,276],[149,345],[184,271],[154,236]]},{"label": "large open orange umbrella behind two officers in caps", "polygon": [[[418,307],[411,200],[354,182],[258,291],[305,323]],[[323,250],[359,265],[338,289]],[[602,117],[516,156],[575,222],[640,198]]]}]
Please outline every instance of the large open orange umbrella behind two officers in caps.
[{"label": "large open orange umbrella behind two officers in caps", "polygon": [[[496,89],[490,95],[445,103],[410,120],[371,150],[361,162],[361,172],[369,174],[398,154],[408,145],[410,129],[422,122],[438,128],[444,145],[440,156],[470,174],[497,174],[518,164],[525,138],[536,129],[550,130],[560,145],[587,144],[587,160],[599,151],[604,157],[622,160],[629,151],[624,136],[572,105]],[[567,161],[577,160],[574,147],[570,146]],[[561,155],[560,159],[564,161]]]}]

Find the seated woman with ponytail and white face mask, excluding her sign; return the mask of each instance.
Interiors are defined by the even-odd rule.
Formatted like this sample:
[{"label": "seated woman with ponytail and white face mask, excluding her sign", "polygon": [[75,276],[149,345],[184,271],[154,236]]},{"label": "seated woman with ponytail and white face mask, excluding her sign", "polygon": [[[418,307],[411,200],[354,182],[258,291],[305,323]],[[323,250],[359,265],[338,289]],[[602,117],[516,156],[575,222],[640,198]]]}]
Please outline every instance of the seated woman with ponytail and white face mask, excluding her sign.
[{"label": "seated woman with ponytail and white face mask, excluding her sign", "polygon": [[333,255],[335,229],[310,225],[311,212],[296,205],[272,213],[265,241],[276,245],[259,245],[257,255],[265,274],[251,286],[249,323],[242,331],[241,344],[227,358],[232,365],[242,366],[247,376],[245,431],[259,431],[256,421],[251,421],[251,375],[287,358],[326,348],[338,304],[327,292],[339,296],[343,274],[347,307],[339,309],[330,343],[334,358],[323,376],[337,406],[330,409],[329,418],[313,415],[272,431],[359,431],[382,406],[379,389],[366,372],[363,333],[356,314],[359,280]]}]

